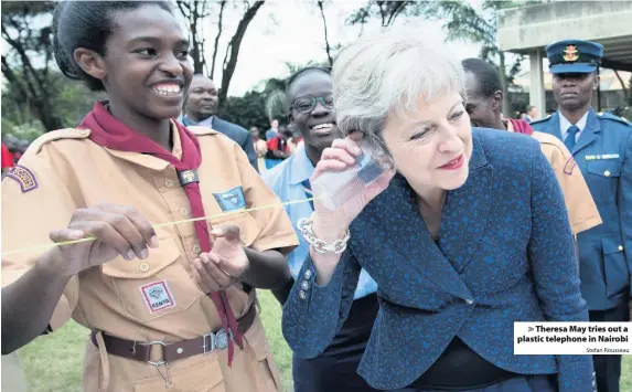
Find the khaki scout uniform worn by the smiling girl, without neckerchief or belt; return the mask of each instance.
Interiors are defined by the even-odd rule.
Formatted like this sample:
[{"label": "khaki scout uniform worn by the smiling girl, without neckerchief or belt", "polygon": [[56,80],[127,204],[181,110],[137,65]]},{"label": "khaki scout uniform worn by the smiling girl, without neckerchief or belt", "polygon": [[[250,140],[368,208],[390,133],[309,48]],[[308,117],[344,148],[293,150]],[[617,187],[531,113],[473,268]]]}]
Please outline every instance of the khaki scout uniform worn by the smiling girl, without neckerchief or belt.
[{"label": "khaki scout uniform worn by the smiling girl, without neckerchief or belt", "polygon": [[[203,156],[197,173],[206,215],[221,215],[222,205],[231,205],[222,203],[222,197],[231,197],[239,187],[247,208],[279,203],[239,146],[208,128],[191,130],[197,135]],[[2,181],[3,252],[50,242],[49,233],[66,227],[75,210],[97,203],[135,206],[152,224],[191,218],[175,169],[167,161],[109,150],[88,136],[89,130],[65,129],[36,140],[20,161],[33,174],[35,189],[23,192],[19,181]],[[173,155],[180,158],[178,131],[173,138]],[[222,224],[239,226],[244,245],[256,251],[291,250],[298,244],[280,205],[212,220],[214,226]],[[128,262],[117,257],[74,276],[54,310],[51,328],[60,328],[72,317],[89,329],[124,339],[167,343],[218,330],[222,322],[215,305],[200,289],[192,272],[191,263],[200,253],[193,223],[160,227],[157,234],[160,246],[149,251],[148,259]],[[3,256],[3,285],[24,274],[41,253],[36,250]],[[150,307],[141,289],[157,283],[164,283],[172,298],[161,304],[160,310]],[[254,290],[247,294],[242,284],[226,293],[237,319],[255,300]],[[152,349],[154,356],[152,360],[161,359],[159,346]],[[164,367],[160,371],[167,374]],[[245,333],[244,350],[235,346],[232,368],[227,365],[227,350],[219,350],[174,361],[169,364],[169,375],[171,389],[167,389],[156,367],[99,352],[87,343],[84,389],[89,392],[249,392],[280,388],[258,316]]]}]

